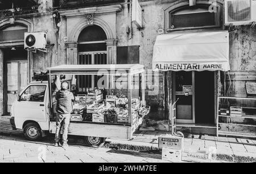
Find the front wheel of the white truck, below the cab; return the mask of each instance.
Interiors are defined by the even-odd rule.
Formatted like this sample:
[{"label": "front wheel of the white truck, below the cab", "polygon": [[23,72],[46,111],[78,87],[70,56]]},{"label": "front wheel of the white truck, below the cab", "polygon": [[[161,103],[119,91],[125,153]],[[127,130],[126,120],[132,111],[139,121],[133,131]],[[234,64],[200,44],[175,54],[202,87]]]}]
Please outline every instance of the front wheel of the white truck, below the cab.
[{"label": "front wheel of the white truck, below the cab", "polygon": [[24,126],[24,135],[28,140],[35,141],[36,139],[42,138],[42,131],[38,124],[30,122]]}]

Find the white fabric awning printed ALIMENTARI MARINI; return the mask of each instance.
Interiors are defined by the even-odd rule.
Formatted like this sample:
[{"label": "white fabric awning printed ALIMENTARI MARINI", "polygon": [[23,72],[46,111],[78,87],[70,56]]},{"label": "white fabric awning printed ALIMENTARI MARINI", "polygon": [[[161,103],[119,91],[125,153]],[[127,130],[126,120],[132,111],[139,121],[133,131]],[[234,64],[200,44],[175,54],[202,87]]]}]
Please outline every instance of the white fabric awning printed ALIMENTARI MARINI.
[{"label": "white fabric awning printed ALIMENTARI MARINI", "polygon": [[159,35],[154,45],[152,64],[155,71],[229,71],[229,33]]}]

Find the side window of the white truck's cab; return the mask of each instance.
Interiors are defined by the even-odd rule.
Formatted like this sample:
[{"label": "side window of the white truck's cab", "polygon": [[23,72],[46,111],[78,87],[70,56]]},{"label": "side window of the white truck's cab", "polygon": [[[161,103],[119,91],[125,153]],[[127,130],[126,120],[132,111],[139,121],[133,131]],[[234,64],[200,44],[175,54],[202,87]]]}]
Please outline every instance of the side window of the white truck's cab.
[{"label": "side window of the white truck's cab", "polygon": [[20,101],[44,101],[45,85],[32,85],[20,96]]}]

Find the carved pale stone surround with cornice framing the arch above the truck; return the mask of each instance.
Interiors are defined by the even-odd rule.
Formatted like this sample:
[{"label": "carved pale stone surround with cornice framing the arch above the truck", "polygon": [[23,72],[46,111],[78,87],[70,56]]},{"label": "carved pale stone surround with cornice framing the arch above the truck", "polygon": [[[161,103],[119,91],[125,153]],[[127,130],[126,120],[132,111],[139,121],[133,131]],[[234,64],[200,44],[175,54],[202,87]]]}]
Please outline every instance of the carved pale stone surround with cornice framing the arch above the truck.
[{"label": "carved pale stone surround with cornice framing the arch above the truck", "polygon": [[67,64],[77,64],[77,42],[80,33],[86,27],[92,25],[101,27],[106,33],[107,61],[108,63],[116,63],[116,13],[121,10],[121,5],[112,5],[59,11],[61,16],[67,18]]}]

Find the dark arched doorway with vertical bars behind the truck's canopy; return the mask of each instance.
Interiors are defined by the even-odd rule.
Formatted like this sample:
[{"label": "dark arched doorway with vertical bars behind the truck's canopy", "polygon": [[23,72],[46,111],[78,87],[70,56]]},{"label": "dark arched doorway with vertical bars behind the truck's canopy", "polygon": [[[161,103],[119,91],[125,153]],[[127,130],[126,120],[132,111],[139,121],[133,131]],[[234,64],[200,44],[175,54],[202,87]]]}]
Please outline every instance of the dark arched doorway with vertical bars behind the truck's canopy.
[{"label": "dark arched doorway with vertical bars behind the truck's canopy", "polygon": [[[78,40],[79,65],[107,64],[107,36],[99,26],[88,26],[82,30]],[[97,82],[101,76],[80,75],[78,78],[79,92],[86,88],[98,87]]]}]

